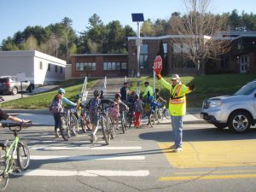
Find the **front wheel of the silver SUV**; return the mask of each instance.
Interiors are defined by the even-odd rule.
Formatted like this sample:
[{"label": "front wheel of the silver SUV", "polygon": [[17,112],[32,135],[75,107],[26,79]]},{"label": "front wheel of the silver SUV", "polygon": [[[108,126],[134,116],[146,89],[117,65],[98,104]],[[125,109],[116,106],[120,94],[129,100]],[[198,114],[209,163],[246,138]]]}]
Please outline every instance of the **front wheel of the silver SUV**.
[{"label": "front wheel of the silver SUV", "polygon": [[230,131],[241,133],[248,131],[252,125],[252,119],[247,112],[236,111],[230,114],[228,126]]}]

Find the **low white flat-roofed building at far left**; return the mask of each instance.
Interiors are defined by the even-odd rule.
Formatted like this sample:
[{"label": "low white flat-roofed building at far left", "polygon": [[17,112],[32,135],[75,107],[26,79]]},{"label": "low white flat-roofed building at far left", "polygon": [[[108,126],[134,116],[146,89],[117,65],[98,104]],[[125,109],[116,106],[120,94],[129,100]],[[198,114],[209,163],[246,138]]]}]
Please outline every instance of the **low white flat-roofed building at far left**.
[{"label": "low white flat-roofed building at far left", "polygon": [[67,62],[37,50],[0,51],[0,76],[25,73],[36,86],[65,80]]}]

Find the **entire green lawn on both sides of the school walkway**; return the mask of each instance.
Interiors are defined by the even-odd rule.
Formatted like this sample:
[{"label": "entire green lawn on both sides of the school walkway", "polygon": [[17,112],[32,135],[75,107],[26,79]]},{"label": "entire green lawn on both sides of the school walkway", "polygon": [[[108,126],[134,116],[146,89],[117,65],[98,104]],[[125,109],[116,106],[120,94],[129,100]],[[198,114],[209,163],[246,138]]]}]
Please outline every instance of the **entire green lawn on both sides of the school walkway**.
[{"label": "entire green lawn on both sides of the school walkway", "polygon": [[[164,77],[167,82],[170,82],[170,76]],[[256,74],[218,74],[204,76],[184,76],[181,77],[183,84],[195,84],[195,91],[187,95],[188,108],[201,108],[204,99],[212,96],[231,95],[240,89],[242,85],[256,79]],[[137,89],[137,79],[129,79],[131,81],[131,90]],[[148,81],[153,87],[153,77],[142,77],[141,91],[145,90],[144,82]],[[96,79],[89,79],[87,87],[90,88],[96,84]],[[65,88],[68,99],[73,100],[74,96],[82,90],[84,79],[72,79],[59,84]],[[156,79],[156,88],[160,88],[160,95],[168,100],[169,91],[163,87]],[[49,102],[55,96],[56,90],[41,93],[34,96],[20,98],[11,102],[2,103],[2,108],[20,108],[20,109],[45,109],[48,108]]]}]

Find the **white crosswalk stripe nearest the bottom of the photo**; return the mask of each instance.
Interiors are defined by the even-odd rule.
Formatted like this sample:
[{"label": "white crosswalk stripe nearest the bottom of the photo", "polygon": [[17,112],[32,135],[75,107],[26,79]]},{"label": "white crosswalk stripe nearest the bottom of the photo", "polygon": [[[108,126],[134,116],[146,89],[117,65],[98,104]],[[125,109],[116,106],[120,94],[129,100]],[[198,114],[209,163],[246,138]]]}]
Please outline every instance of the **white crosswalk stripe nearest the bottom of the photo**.
[{"label": "white crosswalk stripe nearest the bottom of the photo", "polygon": [[148,170],[137,171],[113,171],[113,170],[85,170],[83,172],[76,171],[59,171],[59,170],[32,170],[20,172],[19,176],[84,176],[84,177],[97,177],[97,176],[129,176],[129,177],[146,177],[149,175]]}]

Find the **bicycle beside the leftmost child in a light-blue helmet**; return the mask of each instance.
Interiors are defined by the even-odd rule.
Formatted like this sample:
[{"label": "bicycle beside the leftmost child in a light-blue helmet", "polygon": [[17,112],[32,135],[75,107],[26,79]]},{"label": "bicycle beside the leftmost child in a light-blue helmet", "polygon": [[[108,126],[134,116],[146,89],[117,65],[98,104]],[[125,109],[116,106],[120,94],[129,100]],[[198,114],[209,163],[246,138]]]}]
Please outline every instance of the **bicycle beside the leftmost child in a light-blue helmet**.
[{"label": "bicycle beside the leftmost child in a light-blue helmet", "polygon": [[68,141],[68,138],[71,137],[70,132],[72,131],[74,135],[76,132],[79,132],[79,122],[74,114],[75,108],[67,107],[67,110],[64,110],[61,113],[61,136],[64,141]]}]

